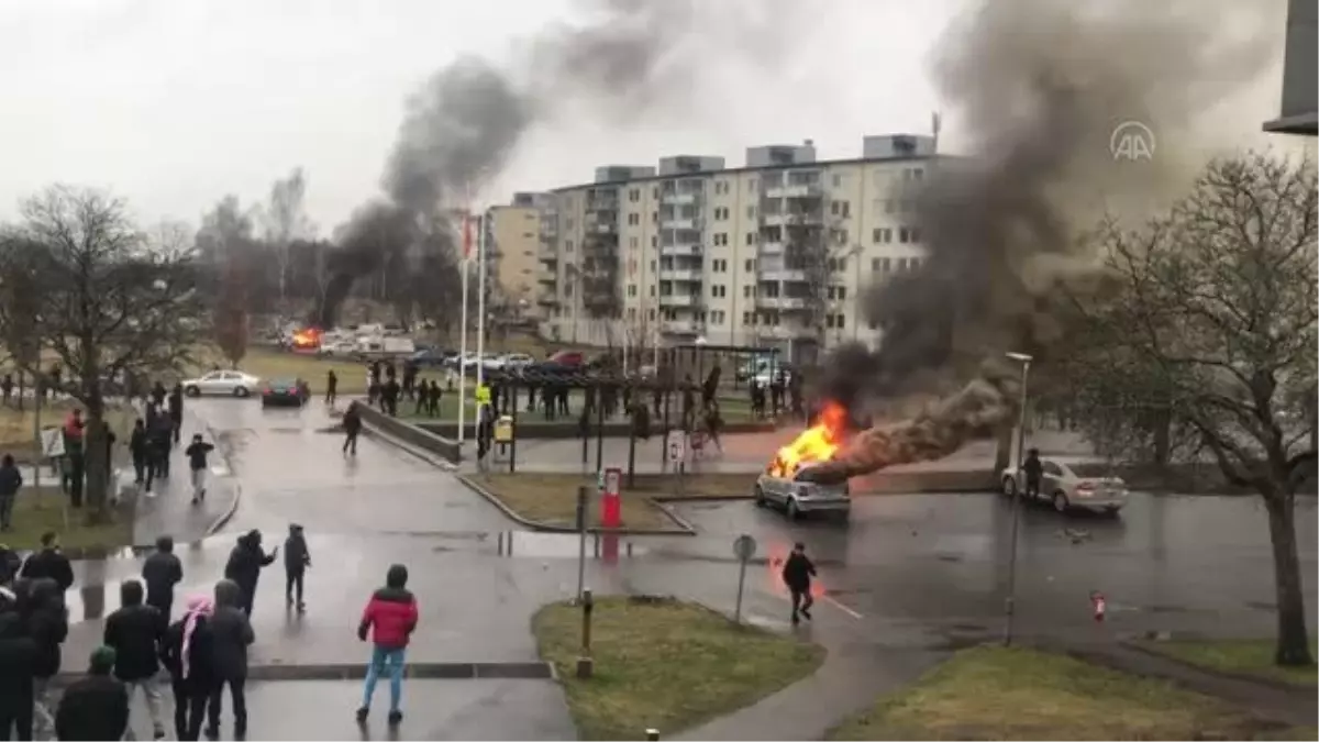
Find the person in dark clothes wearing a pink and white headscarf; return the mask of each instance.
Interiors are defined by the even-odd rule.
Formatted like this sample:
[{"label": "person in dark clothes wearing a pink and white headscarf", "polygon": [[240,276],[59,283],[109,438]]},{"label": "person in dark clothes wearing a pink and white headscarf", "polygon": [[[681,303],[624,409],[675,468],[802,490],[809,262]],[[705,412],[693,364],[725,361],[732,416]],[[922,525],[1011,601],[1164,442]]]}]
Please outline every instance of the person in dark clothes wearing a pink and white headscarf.
[{"label": "person in dark clothes wearing a pink and white headscarf", "polygon": [[215,601],[208,595],[187,599],[183,618],[165,631],[161,661],[174,692],[174,734],[178,742],[198,742],[206,721],[206,704],[215,685],[215,638],[211,617]]}]

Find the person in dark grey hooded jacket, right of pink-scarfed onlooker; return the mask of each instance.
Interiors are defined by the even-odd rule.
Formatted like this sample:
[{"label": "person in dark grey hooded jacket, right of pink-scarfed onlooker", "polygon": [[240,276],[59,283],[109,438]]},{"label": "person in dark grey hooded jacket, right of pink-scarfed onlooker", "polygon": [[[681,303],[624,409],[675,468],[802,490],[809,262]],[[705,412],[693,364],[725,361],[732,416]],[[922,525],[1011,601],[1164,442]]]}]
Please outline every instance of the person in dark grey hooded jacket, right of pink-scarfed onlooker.
[{"label": "person in dark grey hooded jacket, right of pink-scarfed onlooker", "polygon": [[230,688],[233,701],[233,735],[247,734],[247,652],[256,635],[252,623],[243,610],[243,590],[232,580],[220,580],[215,585],[215,613],[211,617],[211,656],[215,661],[215,681],[210,687],[210,700],[206,705],[206,735],[220,735],[220,712],[224,705],[224,687]]}]

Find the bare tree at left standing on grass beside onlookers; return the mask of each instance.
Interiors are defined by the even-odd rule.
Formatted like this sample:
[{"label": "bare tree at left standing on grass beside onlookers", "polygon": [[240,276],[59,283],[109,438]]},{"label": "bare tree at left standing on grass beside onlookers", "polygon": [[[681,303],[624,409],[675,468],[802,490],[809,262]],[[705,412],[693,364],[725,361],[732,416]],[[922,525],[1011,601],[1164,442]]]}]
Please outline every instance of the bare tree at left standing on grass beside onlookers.
[{"label": "bare tree at left standing on grass beside onlookers", "polygon": [[[179,367],[200,327],[193,247],[153,244],[106,193],[53,186],[22,203],[22,222],[0,243],[0,322],[30,322],[86,408],[88,518],[107,518],[109,446],[103,380],[121,372]],[[40,375],[40,360],[20,367]]]}]

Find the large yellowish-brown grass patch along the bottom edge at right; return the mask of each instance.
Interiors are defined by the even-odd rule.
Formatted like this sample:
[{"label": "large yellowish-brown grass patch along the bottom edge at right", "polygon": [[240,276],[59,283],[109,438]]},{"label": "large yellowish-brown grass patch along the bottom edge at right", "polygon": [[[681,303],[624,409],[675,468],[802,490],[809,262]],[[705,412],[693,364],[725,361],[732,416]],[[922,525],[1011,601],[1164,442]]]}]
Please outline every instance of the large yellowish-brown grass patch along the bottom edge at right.
[{"label": "large yellowish-brown grass patch along the bottom edge at right", "polygon": [[1257,729],[1242,712],[1170,683],[1035,650],[976,647],[834,730],[828,742],[1178,742],[1200,731],[1256,738],[1242,734]]}]

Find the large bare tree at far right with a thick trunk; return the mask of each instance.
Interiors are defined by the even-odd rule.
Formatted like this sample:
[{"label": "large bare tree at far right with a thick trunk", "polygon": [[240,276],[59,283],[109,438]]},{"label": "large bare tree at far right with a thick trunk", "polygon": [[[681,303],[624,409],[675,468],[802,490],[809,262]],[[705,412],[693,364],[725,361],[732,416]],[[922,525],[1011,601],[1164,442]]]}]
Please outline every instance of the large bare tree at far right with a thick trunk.
[{"label": "large bare tree at far right with a thick trunk", "polygon": [[1294,518],[1319,458],[1304,415],[1319,389],[1319,172],[1264,154],[1216,161],[1165,218],[1099,236],[1115,293],[1079,302],[1084,353],[1068,372],[1083,400],[1126,415],[1083,425],[1133,449],[1167,436],[1170,455],[1208,457],[1260,494],[1274,660],[1311,664]]}]

